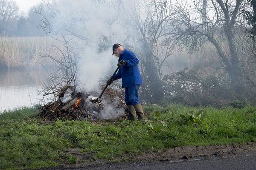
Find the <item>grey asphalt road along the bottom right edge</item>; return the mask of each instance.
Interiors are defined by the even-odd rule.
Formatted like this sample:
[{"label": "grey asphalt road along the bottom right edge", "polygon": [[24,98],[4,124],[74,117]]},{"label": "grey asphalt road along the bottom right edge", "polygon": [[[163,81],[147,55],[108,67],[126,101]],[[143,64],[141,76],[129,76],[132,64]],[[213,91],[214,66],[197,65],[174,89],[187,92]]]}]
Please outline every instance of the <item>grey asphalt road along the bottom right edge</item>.
[{"label": "grey asphalt road along the bottom right edge", "polygon": [[196,157],[169,161],[100,164],[84,167],[55,167],[44,170],[256,170],[256,153],[233,157]]}]

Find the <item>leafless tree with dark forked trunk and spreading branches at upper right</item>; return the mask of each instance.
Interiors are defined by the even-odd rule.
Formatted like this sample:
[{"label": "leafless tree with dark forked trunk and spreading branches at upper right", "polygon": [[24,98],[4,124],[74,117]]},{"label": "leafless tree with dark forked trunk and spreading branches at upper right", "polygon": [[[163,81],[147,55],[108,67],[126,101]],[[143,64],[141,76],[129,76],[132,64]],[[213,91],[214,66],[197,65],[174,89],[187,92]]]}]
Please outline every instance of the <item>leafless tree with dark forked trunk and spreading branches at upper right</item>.
[{"label": "leafless tree with dark forked trunk and spreading branches at upper right", "polygon": [[[205,6],[205,1],[202,0],[193,3],[177,1],[172,8],[176,14],[170,22],[173,28],[170,30],[172,37],[169,39],[175,45],[186,46],[190,52],[202,48],[204,42],[212,43],[234,87],[237,88],[240,88],[241,83],[237,28],[244,24],[241,19],[241,9],[244,5],[242,2],[242,0],[208,0]],[[203,20],[201,16],[204,16]]]}]

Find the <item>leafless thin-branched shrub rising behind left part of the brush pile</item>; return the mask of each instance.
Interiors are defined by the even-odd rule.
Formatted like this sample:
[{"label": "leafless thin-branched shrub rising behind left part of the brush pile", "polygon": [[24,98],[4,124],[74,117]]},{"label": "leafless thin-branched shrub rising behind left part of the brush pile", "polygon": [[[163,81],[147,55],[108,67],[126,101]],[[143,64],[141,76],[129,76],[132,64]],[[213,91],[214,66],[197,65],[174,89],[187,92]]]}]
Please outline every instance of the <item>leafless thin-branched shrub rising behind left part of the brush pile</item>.
[{"label": "leafless thin-branched shrub rising behind left part of the brush pile", "polygon": [[77,85],[76,59],[78,54],[75,47],[70,43],[72,38],[66,37],[64,34],[56,35],[53,38],[56,43],[52,45],[48,53],[40,54],[42,58],[50,59],[55,63],[55,68],[46,68],[48,77],[41,93],[43,96],[52,94],[52,101],[57,101],[58,95],[63,88]]}]

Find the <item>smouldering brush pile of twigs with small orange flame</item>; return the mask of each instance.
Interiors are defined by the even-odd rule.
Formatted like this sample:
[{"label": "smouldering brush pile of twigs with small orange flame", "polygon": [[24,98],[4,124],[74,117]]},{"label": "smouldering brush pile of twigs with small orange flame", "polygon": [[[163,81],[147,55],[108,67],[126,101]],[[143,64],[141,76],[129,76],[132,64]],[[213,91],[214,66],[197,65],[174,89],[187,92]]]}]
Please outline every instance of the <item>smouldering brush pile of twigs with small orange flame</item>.
[{"label": "smouldering brush pile of twigs with small orange flame", "polygon": [[101,100],[94,103],[92,99],[91,94],[76,92],[74,86],[67,86],[58,92],[58,99],[55,102],[41,108],[39,116],[49,120],[126,118],[122,92],[108,88]]}]

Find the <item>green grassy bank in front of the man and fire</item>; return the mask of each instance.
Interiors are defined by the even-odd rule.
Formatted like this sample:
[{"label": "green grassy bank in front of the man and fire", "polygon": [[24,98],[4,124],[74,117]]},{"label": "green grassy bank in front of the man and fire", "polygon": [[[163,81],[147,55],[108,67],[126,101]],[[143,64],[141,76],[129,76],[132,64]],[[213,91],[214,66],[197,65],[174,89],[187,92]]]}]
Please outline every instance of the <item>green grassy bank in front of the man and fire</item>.
[{"label": "green grassy bank in front of the man and fire", "polygon": [[[0,169],[23,169],[72,164],[77,157],[65,152],[79,148],[92,160],[122,159],[183,145],[256,142],[256,108],[166,108],[144,106],[144,123],[121,120],[45,122],[35,109],[0,115]],[[86,160],[84,160],[86,161]]]}]

